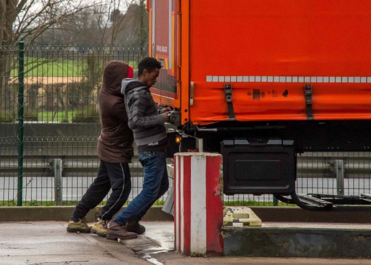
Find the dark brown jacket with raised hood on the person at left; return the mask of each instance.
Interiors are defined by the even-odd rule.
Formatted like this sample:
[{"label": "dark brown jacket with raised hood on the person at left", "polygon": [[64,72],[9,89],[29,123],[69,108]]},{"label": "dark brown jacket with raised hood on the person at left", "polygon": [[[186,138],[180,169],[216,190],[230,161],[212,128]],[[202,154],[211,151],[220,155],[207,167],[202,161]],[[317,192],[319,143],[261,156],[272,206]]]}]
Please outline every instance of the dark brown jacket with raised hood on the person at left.
[{"label": "dark brown jacket with raised hood on the person at left", "polygon": [[98,96],[102,130],[98,139],[98,157],[108,163],[130,163],[134,155],[133,131],[121,93],[124,78],[133,77],[133,68],[113,60],[104,67],[103,85]]}]

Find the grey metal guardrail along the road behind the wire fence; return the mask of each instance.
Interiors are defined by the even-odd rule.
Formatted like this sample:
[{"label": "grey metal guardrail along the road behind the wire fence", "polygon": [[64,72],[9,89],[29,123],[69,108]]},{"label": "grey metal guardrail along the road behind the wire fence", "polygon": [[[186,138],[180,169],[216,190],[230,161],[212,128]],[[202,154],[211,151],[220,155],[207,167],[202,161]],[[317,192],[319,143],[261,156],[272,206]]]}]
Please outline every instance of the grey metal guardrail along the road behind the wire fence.
[{"label": "grey metal guardrail along the road behind the wire fence", "polygon": [[[47,146],[45,142],[40,144]],[[95,146],[96,140],[89,142],[89,148],[85,146],[74,151],[76,154],[58,154],[57,148],[48,148],[47,154],[26,154],[23,164],[26,183],[24,200],[54,201],[56,205],[62,205],[63,201],[79,200],[98,172],[99,159],[95,154]],[[27,153],[28,148],[25,150]],[[356,196],[370,193],[370,165],[369,153],[338,152],[336,157],[334,153],[302,154],[297,157],[297,193]],[[0,168],[0,200],[12,200],[16,198],[16,155],[2,154]],[[142,165],[137,155],[131,163],[131,174],[133,191],[129,200],[142,189]],[[256,197],[235,195],[225,196],[225,200],[237,203],[241,200],[273,200],[267,195]]]}]

